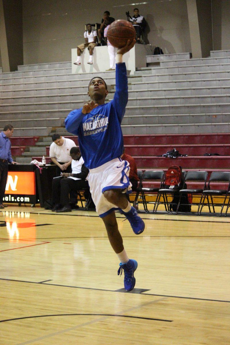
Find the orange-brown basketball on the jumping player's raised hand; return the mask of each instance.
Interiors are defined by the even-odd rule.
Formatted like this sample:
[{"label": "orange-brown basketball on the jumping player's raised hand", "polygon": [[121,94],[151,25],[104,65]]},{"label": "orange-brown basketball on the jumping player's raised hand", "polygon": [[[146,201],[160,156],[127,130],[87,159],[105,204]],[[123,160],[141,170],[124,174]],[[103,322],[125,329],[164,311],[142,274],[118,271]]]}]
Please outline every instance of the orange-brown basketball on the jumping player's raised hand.
[{"label": "orange-brown basketball on the jumping player's raised hand", "polygon": [[118,19],[110,24],[107,37],[113,47],[122,48],[128,40],[136,38],[136,31],[130,22]]}]

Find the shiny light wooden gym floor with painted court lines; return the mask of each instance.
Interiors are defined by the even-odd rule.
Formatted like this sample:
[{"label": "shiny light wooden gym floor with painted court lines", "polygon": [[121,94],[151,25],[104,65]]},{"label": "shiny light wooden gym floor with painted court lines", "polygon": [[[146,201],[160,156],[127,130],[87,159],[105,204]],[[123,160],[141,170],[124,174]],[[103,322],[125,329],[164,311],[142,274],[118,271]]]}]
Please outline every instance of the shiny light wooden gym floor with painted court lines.
[{"label": "shiny light wooden gym floor with painted court lines", "polygon": [[141,216],[136,236],[117,214],[126,293],[95,212],[0,212],[0,345],[229,344],[230,217]]}]

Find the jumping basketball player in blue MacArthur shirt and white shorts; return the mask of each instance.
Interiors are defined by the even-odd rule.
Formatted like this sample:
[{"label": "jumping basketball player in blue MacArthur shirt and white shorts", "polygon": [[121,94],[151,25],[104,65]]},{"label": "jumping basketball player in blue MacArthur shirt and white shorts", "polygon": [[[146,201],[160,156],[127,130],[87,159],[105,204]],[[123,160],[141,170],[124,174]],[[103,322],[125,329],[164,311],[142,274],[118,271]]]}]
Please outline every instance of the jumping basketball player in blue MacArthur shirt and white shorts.
[{"label": "jumping basketball player in blue MacArthur shirt and white shorts", "polygon": [[128,79],[122,55],[135,44],[127,41],[116,56],[116,92],[109,103],[106,82],[94,77],[89,83],[90,101],[81,109],[70,112],[65,120],[66,129],[78,135],[78,142],[86,167],[96,211],[102,218],[110,244],[120,260],[118,275],[124,270],[124,288],[131,291],[136,279],[133,276],[137,261],[129,259],[123,247],[114,210],[120,210],[129,220],[135,234],[144,230],[144,222],[131,207],[124,193],[131,192],[129,163],[122,160],[123,136],[121,121],[128,101]]}]

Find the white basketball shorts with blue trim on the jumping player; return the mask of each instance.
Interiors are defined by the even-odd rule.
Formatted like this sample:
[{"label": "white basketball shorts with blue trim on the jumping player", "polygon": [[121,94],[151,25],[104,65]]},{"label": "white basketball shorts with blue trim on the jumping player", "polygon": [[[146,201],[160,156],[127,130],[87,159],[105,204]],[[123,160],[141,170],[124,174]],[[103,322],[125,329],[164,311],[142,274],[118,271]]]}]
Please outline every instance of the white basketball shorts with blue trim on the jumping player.
[{"label": "white basketball shorts with blue trim on the jumping player", "polygon": [[122,193],[131,193],[129,182],[129,162],[120,157],[89,170],[89,186],[96,211],[100,217],[105,217],[119,208],[109,203],[103,193],[109,189],[122,189]]}]

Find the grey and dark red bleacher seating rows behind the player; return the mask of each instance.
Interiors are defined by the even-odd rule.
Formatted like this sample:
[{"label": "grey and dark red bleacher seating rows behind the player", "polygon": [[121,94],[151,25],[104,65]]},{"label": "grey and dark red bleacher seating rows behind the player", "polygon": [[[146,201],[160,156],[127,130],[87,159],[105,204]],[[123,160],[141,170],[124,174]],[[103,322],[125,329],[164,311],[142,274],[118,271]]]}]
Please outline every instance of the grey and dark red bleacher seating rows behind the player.
[{"label": "grey and dark red bleacher seating rows behind the player", "polygon": [[[148,56],[147,63],[149,67],[128,76],[129,101],[122,121],[126,152],[138,168],[166,169],[172,159],[158,156],[175,147],[188,155],[176,160],[184,169],[228,169],[230,51],[212,51],[206,59],[191,59],[190,53]],[[114,72],[101,75],[111,85],[110,100]],[[0,123],[14,126],[17,138],[11,142],[17,161],[48,156],[54,132],[77,143],[63,122],[70,110],[88,99],[91,77],[72,74],[71,62],[25,65],[17,72],[0,73]],[[206,152],[220,156],[204,157]]]}]

